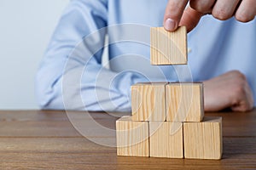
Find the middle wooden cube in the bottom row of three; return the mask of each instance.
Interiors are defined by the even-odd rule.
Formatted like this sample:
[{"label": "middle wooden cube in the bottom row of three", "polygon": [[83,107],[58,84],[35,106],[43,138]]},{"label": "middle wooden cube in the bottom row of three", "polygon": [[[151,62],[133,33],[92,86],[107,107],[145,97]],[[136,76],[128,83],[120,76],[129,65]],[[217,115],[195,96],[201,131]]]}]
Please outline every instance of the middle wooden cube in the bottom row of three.
[{"label": "middle wooden cube in the bottom row of three", "polygon": [[149,122],[152,157],[183,158],[183,123]]}]

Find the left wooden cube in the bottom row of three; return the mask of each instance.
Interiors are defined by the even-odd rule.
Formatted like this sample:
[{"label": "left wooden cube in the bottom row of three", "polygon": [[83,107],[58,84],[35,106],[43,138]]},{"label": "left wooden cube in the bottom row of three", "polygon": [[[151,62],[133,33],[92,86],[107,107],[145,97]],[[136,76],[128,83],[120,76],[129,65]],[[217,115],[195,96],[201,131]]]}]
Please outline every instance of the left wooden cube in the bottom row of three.
[{"label": "left wooden cube in the bottom row of three", "polygon": [[148,122],[133,122],[131,116],[116,121],[117,155],[149,156]]}]

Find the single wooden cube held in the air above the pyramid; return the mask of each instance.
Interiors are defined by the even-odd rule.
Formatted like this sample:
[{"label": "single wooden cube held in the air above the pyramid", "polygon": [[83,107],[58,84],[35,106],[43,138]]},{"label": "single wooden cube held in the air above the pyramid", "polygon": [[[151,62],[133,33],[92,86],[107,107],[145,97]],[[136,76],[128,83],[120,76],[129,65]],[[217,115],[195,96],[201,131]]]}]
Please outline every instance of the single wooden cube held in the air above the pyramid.
[{"label": "single wooden cube held in the air above the pyramid", "polygon": [[186,65],[188,63],[187,30],[181,26],[177,31],[164,27],[150,29],[151,65]]}]

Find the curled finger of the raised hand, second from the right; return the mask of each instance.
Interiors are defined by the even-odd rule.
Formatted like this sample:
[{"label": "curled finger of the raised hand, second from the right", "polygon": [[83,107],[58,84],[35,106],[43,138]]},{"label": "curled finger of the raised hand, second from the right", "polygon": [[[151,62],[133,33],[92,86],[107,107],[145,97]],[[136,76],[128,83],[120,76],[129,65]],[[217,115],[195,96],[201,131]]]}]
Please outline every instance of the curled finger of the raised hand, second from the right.
[{"label": "curled finger of the raised hand, second from the right", "polygon": [[218,0],[212,8],[212,16],[218,20],[230,19],[236,11],[240,0]]}]

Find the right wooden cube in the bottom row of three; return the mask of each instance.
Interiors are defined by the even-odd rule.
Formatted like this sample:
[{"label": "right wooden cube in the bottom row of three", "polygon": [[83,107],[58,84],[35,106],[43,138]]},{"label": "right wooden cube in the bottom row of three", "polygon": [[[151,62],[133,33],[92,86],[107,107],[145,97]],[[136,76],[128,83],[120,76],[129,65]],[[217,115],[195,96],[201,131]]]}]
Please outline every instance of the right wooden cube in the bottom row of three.
[{"label": "right wooden cube in the bottom row of three", "polygon": [[222,118],[205,117],[203,122],[184,122],[183,141],[185,158],[221,159]]}]

